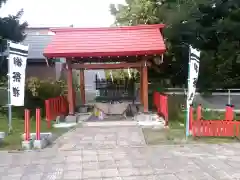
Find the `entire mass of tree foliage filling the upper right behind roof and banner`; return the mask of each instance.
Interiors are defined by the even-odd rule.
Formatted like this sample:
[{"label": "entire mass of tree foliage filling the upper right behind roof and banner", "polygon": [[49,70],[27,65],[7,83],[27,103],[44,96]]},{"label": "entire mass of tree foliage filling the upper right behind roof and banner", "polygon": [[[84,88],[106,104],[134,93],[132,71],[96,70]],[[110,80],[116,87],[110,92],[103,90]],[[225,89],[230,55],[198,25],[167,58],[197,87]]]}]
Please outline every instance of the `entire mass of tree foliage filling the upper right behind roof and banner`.
[{"label": "entire mass of tree foliage filling the upper right behind roof and banner", "polygon": [[168,50],[158,77],[171,86],[186,83],[189,45],[202,52],[198,87],[240,85],[239,0],[127,0],[110,10],[117,25],[166,24]]}]

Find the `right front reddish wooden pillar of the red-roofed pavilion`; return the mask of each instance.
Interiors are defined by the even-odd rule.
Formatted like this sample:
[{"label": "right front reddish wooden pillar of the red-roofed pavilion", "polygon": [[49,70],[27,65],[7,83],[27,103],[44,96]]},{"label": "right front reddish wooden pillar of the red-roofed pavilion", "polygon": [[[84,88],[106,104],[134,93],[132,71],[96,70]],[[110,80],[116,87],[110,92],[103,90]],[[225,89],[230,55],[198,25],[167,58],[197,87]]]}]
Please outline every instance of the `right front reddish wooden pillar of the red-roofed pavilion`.
[{"label": "right front reddish wooden pillar of the red-roofed pavilion", "polygon": [[143,95],[143,111],[148,112],[148,68],[147,61],[143,63],[142,70],[142,95]]}]

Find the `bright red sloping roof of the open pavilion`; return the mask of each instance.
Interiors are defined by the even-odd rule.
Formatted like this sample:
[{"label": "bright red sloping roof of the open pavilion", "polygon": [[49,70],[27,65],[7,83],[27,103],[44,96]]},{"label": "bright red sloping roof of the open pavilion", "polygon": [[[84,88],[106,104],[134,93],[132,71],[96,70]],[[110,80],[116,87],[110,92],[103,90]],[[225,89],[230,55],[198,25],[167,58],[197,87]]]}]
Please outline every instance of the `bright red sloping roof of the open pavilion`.
[{"label": "bright red sloping roof of the open pavilion", "polygon": [[162,54],[163,24],[109,28],[59,28],[44,56],[103,57]]}]

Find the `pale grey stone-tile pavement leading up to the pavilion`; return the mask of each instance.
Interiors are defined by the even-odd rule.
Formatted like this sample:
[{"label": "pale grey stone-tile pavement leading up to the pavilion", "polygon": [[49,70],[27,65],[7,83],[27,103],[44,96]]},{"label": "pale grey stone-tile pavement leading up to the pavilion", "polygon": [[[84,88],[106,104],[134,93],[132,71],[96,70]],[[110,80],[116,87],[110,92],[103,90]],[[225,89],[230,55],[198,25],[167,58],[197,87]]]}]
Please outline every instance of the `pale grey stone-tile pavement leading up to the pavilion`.
[{"label": "pale grey stone-tile pavement leading up to the pavilion", "polygon": [[0,153],[1,180],[240,179],[240,144],[149,147],[138,127],[78,128],[39,152]]}]

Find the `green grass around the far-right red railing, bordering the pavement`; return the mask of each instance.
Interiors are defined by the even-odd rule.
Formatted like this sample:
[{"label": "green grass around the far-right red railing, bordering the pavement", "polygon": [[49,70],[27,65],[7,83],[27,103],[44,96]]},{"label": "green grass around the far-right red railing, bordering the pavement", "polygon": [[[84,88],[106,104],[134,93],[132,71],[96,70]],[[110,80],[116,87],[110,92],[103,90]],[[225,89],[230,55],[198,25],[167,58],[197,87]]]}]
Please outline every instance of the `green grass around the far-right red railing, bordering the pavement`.
[{"label": "green grass around the far-right red railing, bordering the pavement", "polygon": [[[185,137],[185,112],[178,111],[174,113],[174,116],[170,114],[169,117],[174,117],[175,119],[170,119],[169,129],[143,129],[145,140],[149,145],[158,144],[186,144],[186,143],[232,143],[239,142],[238,138],[232,137],[189,137],[186,140]],[[202,112],[205,119],[224,119],[224,112],[216,111],[205,111]],[[177,118],[177,119],[176,119]],[[240,119],[239,114],[235,115],[235,119]]]}]

